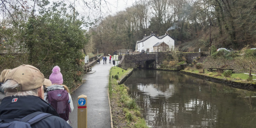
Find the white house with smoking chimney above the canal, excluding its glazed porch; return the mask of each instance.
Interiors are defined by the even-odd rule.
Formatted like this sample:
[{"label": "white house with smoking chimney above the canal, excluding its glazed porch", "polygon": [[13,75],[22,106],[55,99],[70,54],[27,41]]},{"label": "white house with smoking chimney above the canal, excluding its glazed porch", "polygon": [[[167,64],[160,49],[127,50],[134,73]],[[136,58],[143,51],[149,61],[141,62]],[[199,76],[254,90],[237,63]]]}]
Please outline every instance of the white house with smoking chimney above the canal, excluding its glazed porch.
[{"label": "white house with smoking chimney above the canal, excluding its glazed porch", "polygon": [[174,39],[166,32],[165,35],[156,36],[155,33],[151,32],[149,36],[144,35],[144,38],[137,41],[135,49],[136,51],[147,51],[147,52],[157,52],[154,50],[153,46],[158,42],[164,42],[169,45],[169,48],[174,47]]}]

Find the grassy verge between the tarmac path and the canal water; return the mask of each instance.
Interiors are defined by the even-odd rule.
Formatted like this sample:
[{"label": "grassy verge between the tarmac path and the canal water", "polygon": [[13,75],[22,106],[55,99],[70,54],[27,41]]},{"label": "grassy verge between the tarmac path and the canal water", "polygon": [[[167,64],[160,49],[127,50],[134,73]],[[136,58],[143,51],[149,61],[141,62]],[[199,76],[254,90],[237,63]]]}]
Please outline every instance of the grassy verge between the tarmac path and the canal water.
[{"label": "grassy verge between the tarmac path and the canal water", "polygon": [[[131,98],[124,84],[118,85],[118,81],[131,72],[119,67],[112,67],[109,73],[108,93],[111,104],[113,127],[115,128],[148,128],[146,121],[141,118],[141,108],[136,99]],[[113,75],[113,78],[112,78]]]}]

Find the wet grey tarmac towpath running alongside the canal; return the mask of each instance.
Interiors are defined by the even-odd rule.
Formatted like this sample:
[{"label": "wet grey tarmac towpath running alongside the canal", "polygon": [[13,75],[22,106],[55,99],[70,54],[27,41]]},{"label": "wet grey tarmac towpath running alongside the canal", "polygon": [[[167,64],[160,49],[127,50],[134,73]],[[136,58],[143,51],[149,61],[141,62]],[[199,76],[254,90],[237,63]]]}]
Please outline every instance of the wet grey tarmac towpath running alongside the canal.
[{"label": "wet grey tarmac towpath running alongside the canal", "polygon": [[[112,58],[113,59],[113,58]],[[112,60],[111,60],[112,61]],[[86,81],[71,95],[74,110],[69,114],[73,128],[77,128],[77,97],[81,94],[87,95],[87,127],[88,128],[111,128],[110,110],[108,104],[108,76],[109,70],[114,66],[107,64],[95,64],[92,67],[92,74],[86,74],[83,79]]]}]

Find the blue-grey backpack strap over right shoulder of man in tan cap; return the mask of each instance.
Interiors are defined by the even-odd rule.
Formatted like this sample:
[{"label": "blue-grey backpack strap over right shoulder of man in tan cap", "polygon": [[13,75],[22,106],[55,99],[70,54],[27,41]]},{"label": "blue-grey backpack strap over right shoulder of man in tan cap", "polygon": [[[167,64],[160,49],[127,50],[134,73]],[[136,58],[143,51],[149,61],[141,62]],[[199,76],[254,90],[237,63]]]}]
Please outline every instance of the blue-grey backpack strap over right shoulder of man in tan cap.
[{"label": "blue-grey backpack strap over right shoulder of man in tan cap", "polygon": [[53,116],[53,115],[49,114],[49,113],[37,111],[37,112],[31,113],[28,116],[23,117],[23,118],[14,118],[14,120],[27,122],[28,124],[31,125],[31,124],[35,124],[36,122],[41,121],[42,119],[44,119],[46,117],[50,117],[50,116]]}]

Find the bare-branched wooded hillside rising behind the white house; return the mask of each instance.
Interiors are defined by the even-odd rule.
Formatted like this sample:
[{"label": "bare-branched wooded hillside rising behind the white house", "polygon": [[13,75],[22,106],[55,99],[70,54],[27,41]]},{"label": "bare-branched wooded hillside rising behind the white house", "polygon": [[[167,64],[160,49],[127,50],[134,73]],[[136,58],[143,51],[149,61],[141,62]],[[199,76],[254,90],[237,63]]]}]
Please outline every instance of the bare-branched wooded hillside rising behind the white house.
[{"label": "bare-branched wooded hillside rising behind the white house", "polygon": [[168,31],[182,52],[216,48],[241,50],[256,45],[255,0],[139,0],[115,15],[97,20],[89,30],[87,51],[111,54],[135,49],[151,32]]}]

